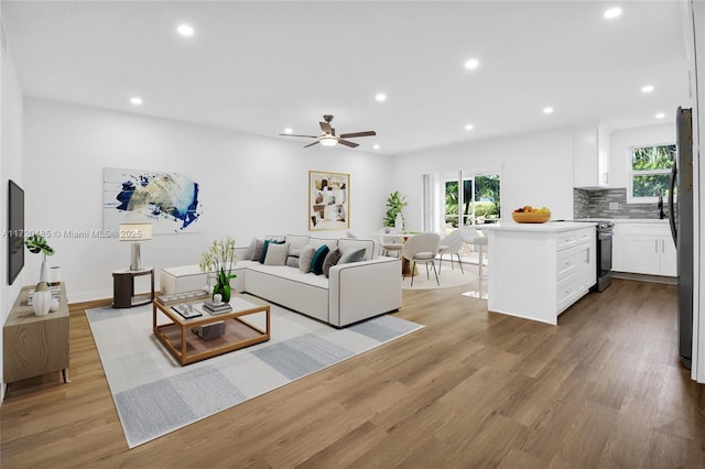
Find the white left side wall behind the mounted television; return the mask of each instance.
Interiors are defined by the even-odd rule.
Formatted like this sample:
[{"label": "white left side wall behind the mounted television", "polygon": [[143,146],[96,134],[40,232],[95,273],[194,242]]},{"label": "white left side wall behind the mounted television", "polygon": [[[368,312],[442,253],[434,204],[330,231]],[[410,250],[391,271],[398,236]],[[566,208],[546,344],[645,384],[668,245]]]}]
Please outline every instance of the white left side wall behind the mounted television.
[{"label": "white left side wall behind the mounted television", "polygon": [[[0,21],[2,20],[0,3]],[[10,309],[23,284],[22,274],[14,284],[8,285],[8,179],[23,184],[22,177],[22,89],[18,80],[10,45],[7,51],[0,50],[0,318],[2,324],[8,319]],[[2,336],[0,335],[0,381],[2,380]],[[1,386],[0,400],[4,385]],[[1,401],[0,401],[1,402]]]}]

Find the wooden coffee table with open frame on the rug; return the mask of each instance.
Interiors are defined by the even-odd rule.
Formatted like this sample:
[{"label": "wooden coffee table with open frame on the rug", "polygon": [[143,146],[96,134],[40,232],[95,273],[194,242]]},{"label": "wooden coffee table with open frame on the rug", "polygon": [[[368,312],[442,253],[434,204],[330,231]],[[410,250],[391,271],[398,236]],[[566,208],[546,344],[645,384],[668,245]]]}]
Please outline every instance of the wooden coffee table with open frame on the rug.
[{"label": "wooden coffee table with open frame on the rug", "polygon": [[[188,303],[188,301],[165,301],[158,297],[152,303],[152,329],[158,339],[166,346],[169,351],[181,364],[189,364],[199,360],[216,357],[238,350],[254,343],[265,342],[270,338],[270,305],[260,299],[243,295],[232,295],[230,305],[232,310],[225,314],[210,315],[203,310],[203,302],[207,296],[189,299],[195,308],[203,312],[203,316],[184,319],[172,306]],[[246,320],[250,315],[264,315],[264,329]],[[158,324],[158,316],[169,318],[169,323]],[[218,338],[203,340],[191,329],[197,326],[223,321],[225,334]]]}]

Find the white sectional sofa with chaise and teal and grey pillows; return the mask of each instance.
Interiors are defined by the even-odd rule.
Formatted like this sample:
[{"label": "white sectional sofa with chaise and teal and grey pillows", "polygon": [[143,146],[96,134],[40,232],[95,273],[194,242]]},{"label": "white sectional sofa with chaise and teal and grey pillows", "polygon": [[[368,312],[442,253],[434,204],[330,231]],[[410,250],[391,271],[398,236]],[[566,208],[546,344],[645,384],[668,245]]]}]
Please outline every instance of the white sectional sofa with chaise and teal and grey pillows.
[{"label": "white sectional sofa with chaise and teal and grey pillows", "polygon": [[[238,275],[232,286],[238,292],[264,298],[289,309],[303,313],[336,327],[347,326],[401,307],[401,263],[399,259],[379,257],[379,243],[367,239],[324,239],[288,234],[264,237],[260,242],[274,240],[278,261],[273,251],[268,258],[249,259],[258,240],[249,248],[237,248],[238,262],[234,272]],[[341,254],[359,254],[362,259],[329,266],[328,277],[313,272],[304,273],[299,266],[299,255],[306,246],[314,249],[323,244],[329,251],[339,249]],[[272,244],[274,246],[274,244]],[[311,250],[310,248],[306,248]],[[286,251],[281,264],[282,251]],[[354,252],[358,251],[358,252]],[[359,255],[356,255],[359,257]],[[160,274],[162,293],[197,290],[206,285],[206,274],[198,265],[162,269]]]}]

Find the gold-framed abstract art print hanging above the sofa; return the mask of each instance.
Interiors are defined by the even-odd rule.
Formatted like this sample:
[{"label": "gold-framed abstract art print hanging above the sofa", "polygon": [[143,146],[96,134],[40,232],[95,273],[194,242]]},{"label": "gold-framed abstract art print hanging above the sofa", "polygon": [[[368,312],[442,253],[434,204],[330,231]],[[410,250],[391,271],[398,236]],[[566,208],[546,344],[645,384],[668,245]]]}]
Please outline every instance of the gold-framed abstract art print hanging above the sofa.
[{"label": "gold-framed abstract art print hanging above the sofa", "polygon": [[308,230],[350,228],[350,175],[308,172]]}]

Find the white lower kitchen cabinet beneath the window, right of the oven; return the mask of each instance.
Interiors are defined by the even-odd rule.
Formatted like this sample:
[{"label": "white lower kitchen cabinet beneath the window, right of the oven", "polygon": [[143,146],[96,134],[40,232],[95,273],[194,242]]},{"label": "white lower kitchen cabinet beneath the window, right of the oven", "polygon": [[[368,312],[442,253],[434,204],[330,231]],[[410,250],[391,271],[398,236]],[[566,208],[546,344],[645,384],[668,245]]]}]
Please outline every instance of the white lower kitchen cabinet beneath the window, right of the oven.
[{"label": "white lower kitchen cabinet beneath the window, right of the oven", "polygon": [[664,221],[615,223],[612,270],[676,276],[675,244]]}]

